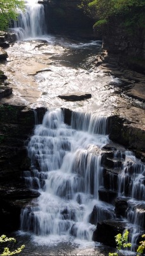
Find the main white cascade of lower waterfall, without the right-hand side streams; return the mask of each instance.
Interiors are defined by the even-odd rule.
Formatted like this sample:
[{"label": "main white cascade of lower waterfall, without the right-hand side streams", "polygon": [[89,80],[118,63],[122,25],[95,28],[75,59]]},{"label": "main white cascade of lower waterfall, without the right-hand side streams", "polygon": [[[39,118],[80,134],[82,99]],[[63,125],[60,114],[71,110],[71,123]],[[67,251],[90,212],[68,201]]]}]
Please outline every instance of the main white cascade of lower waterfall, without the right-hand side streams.
[{"label": "main white cascade of lower waterfall, without the right-hand side streams", "polygon": [[[22,230],[59,239],[71,234],[91,241],[95,225],[88,221],[94,205],[100,208],[97,220],[106,219],[106,212],[113,211],[113,206],[100,202],[98,196],[102,186],[100,148],[109,141],[104,134],[106,118],[95,116],[92,122],[90,115],[81,118],[77,126],[78,117],[79,113],[72,115],[69,127],[64,124],[62,110],[56,109],[48,111],[43,124],[36,126],[28,145],[32,172],[25,173],[25,180],[41,195],[37,206],[22,212]],[[79,129],[80,124],[85,131],[72,129]]]}]

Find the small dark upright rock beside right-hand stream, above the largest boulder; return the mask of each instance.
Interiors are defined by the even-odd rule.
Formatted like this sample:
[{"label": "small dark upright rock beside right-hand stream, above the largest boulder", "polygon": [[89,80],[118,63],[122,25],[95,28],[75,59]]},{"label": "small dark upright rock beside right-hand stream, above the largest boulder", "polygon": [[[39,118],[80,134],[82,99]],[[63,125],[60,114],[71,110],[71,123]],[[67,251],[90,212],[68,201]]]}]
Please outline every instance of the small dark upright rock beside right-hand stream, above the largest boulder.
[{"label": "small dark upright rock beside right-hand stream, above the largest boulder", "polygon": [[126,217],[126,211],[128,207],[127,203],[128,199],[127,198],[117,198],[114,202],[115,205],[115,212],[116,212],[116,217],[121,218],[121,217]]}]

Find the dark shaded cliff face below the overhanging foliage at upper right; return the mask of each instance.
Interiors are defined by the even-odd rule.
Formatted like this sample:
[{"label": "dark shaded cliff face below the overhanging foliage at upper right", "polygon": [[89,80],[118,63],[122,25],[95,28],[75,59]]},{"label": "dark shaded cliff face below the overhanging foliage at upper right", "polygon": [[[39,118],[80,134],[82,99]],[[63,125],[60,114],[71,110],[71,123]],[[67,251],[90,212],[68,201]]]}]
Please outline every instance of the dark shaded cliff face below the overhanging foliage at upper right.
[{"label": "dark shaded cliff face below the overhanging foliage at upper right", "polygon": [[103,31],[103,49],[118,55],[120,63],[145,73],[145,28],[128,29],[123,18],[116,17]]}]

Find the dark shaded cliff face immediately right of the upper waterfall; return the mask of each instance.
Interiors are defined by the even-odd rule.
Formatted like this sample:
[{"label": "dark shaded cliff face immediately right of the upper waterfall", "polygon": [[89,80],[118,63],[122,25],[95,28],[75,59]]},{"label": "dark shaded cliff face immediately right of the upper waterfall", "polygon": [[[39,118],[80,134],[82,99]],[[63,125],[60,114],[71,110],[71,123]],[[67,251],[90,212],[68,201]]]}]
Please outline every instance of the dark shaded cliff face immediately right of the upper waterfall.
[{"label": "dark shaded cliff face immediately right of the upper waterfall", "polygon": [[94,37],[93,19],[87,17],[78,6],[78,0],[39,1],[45,7],[48,33]]}]

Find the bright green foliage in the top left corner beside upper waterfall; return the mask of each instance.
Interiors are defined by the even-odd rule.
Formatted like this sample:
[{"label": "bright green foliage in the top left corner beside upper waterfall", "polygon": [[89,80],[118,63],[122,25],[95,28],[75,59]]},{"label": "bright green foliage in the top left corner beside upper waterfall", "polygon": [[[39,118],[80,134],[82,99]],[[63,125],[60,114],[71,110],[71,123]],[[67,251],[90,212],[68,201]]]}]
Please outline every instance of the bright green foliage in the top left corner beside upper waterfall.
[{"label": "bright green foliage in the top left corner beside upper waterfall", "polygon": [[6,30],[11,20],[17,20],[18,9],[24,10],[23,0],[0,1],[0,30]]}]

